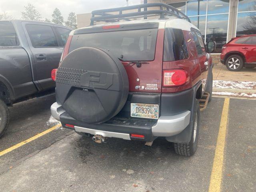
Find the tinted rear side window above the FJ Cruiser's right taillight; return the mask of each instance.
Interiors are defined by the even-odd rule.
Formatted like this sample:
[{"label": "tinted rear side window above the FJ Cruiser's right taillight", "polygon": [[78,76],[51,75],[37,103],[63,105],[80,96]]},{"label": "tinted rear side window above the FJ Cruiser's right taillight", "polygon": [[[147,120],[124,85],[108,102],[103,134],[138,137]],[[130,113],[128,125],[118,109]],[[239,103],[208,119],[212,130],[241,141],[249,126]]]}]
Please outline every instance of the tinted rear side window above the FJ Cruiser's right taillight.
[{"label": "tinted rear side window above the FJ Cruiser's right taillight", "polygon": [[166,28],[164,32],[164,61],[177,61],[188,58],[188,49],[180,29]]}]

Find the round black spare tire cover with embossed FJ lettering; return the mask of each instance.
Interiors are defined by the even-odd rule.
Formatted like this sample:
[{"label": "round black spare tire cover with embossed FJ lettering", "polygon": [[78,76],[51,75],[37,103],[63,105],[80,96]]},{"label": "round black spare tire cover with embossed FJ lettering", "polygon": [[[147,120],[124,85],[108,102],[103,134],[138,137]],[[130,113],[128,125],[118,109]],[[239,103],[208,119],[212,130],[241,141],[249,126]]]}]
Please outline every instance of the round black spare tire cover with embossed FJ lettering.
[{"label": "round black spare tire cover with embossed FJ lettering", "polygon": [[102,123],[120,112],[129,91],[123,64],[94,47],[78,48],[62,61],[56,75],[56,98],[74,119]]}]

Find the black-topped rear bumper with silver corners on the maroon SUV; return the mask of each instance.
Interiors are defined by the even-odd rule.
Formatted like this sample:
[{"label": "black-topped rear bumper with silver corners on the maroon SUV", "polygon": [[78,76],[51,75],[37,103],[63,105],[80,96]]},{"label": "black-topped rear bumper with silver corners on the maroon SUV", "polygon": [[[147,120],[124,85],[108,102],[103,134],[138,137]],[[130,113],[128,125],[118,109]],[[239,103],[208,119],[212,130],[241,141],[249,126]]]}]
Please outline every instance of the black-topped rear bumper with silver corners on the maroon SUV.
[{"label": "black-topped rear bumper with silver corners on the maroon SUV", "polygon": [[160,116],[157,121],[129,118],[112,118],[102,124],[85,124],[69,116],[61,105],[51,106],[52,116],[60,120],[64,128],[66,124],[74,125],[77,132],[99,134],[104,137],[115,137],[131,140],[130,134],[142,134],[144,140],[152,140],[157,136],[174,136],[182,132],[190,123],[190,111],[173,116]]}]

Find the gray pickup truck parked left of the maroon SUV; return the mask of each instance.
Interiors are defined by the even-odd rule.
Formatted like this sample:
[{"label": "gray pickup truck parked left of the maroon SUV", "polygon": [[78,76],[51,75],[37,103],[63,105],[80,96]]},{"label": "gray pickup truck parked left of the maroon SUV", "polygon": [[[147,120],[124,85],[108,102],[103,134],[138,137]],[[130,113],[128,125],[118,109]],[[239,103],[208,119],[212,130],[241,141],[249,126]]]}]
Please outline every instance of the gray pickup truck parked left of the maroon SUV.
[{"label": "gray pickup truck parked left of the maroon SUV", "polygon": [[55,87],[58,68],[72,29],[26,20],[0,21],[0,136],[8,127],[8,106]]}]

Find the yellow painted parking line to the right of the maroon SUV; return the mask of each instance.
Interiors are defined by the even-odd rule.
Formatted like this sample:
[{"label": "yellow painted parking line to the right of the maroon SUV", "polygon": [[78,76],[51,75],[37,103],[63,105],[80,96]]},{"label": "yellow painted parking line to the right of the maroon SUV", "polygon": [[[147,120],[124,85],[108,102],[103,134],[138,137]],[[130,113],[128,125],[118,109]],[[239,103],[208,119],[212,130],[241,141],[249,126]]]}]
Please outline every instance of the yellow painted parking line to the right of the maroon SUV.
[{"label": "yellow painted parking line to the right of the maroon SUV", "polygon": [[222,166],[224,157],[224,147],[226,140],[226,129],[228,125],[228,108],[229,98],[225,98],[221,120],[220,129],[217,138],[217,144],[215,149],[214,161],[212,166],[212,174],[210,180],[210,186],[208,192],[220,192],[221,180],[222,180]]}]

